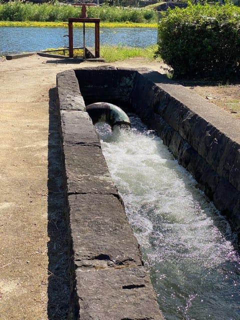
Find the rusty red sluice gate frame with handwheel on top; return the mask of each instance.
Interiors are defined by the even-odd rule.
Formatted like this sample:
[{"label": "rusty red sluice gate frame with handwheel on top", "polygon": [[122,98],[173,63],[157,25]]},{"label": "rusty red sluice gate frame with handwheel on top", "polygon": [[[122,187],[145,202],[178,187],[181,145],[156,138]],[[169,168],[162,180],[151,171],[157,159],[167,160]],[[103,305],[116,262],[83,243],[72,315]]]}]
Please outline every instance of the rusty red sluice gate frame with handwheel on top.
[{"label": "rusty red sluice gate frame with handwheel on top", "polygon": [[69,57],[73,57],[73,22],[82,22],[83,23],[83,57],[85,57],[85,23],[94,23],[95,26],[95,58],[100,56],[100,19],[99,18],[88,18],[86,12],[86,6],[96,5],[95,3],[75,3],[72,5],[81,6],[81,16],[77,18],[68,18],[68,41],[69,41]]}]

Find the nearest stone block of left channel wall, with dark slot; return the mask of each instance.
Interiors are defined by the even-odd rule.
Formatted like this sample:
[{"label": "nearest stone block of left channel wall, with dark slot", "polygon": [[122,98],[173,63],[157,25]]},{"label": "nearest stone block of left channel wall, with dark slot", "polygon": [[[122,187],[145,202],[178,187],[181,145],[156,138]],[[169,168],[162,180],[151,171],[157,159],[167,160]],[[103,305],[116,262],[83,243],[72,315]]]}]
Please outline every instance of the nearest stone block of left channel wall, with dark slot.
[{"label": "nearest stone block of left channel wall, with dark slot", "polygon": [[76,270],[81,320],[163,320],[142,267]]}]

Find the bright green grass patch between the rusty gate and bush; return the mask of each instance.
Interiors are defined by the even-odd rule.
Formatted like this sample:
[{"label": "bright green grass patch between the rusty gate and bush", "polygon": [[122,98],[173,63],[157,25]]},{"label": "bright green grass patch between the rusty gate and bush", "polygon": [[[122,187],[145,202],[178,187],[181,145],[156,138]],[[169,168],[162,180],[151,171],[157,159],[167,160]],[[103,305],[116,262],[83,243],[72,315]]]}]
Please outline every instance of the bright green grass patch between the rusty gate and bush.
[{"label": "bright green grass patch between the rusty gate and bush", "polygon": [[[149,60],[154,59],[154,53],[156,51],[157,45],[150,45],[146,48],[140,47],[128,47],[124,45],[103,45],[100,46],[100,55],[105,59],[106,62],[113,62],[117,60],[125,60],[130,57],[145,57]],[[161,60],[158,58],[158,60]]]}]

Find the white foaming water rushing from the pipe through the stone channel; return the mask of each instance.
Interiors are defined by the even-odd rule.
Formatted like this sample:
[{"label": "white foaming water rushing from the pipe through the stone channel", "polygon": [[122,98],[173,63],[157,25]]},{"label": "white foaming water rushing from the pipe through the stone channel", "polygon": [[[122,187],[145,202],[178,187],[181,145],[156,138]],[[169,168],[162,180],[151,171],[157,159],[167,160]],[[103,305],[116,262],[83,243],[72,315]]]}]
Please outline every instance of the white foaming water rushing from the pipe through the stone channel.
[{"label": "white foaming water rushing from the pipe through the stone channel", "polygon": [[159,137],[131,122],[130,131],[98,132],[164,317],[239,320],[235,235]]}]

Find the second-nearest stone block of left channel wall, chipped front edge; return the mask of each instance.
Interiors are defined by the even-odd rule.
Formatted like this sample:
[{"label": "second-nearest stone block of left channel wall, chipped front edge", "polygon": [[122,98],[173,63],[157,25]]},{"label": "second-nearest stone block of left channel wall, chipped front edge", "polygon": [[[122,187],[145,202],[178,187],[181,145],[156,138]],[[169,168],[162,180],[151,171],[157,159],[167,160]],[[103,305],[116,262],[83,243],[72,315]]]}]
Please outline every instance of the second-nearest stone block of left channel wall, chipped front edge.
[{"label": "second-nearest stone block of left channel wall, chipped front edge", "polygon": [[68,202],[76,265],[93,260],[107,265],[142,264],[138,243],[117,196],[72,194]]}]

